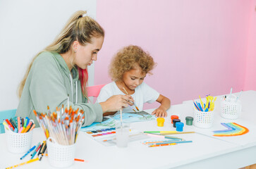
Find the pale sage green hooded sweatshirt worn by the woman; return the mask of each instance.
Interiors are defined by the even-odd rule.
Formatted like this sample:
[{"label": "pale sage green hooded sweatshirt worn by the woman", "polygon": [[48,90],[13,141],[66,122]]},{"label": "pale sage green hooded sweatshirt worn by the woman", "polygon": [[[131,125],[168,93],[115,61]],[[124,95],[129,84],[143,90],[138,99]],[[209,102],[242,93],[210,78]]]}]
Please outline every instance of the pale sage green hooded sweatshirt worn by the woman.
[{"label": "pale sage green hooded sweatshirt worn by the woman", "polygon": [[[39,127],[33,110],[46,113],[47,106],[51,112],[56,111],[56,107],[61,107],[62,104],[66,107],[68,106],[69,94],[69,105],[75,110],[79,108],[85,111],[83,126],[91,125],[93,122],[101,122],[102,106],[100,104],[87,104],[87,99],[82,94],[78,79],[78,70],[73,68],[71,72],[60,54],[48,51],[39,54],[32,63],[16,115],[34,120],[36,127]],[[71,89],[71,79],[73,89]],[[75,104],[76,98],[77,104]]]}]

